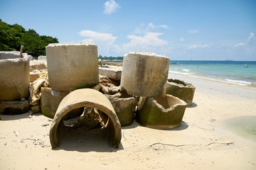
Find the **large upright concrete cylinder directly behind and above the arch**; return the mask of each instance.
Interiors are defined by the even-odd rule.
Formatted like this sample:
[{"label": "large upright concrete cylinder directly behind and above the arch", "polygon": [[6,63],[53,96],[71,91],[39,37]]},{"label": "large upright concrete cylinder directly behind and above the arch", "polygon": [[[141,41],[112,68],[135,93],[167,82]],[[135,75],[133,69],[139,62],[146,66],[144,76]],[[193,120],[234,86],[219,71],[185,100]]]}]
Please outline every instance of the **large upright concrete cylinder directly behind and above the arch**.
[{"label": "large upright concrete cylinder directly behind and above the arch", "polygon": [[99,81],[97,45],[93,42],[49,44],[46,56],[49,86],[54,90],[73,91]]}]

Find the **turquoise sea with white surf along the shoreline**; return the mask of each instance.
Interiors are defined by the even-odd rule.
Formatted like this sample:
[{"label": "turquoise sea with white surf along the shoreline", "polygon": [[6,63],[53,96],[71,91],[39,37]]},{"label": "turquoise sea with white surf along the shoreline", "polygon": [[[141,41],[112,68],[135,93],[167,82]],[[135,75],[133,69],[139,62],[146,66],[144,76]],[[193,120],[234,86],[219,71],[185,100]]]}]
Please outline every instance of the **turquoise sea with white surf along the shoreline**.
[{"label": "turquoise sea with white surf along the shoreline", "polygon": [[171,60],[169,75],[171,74],[256,88],[256,62]]}]

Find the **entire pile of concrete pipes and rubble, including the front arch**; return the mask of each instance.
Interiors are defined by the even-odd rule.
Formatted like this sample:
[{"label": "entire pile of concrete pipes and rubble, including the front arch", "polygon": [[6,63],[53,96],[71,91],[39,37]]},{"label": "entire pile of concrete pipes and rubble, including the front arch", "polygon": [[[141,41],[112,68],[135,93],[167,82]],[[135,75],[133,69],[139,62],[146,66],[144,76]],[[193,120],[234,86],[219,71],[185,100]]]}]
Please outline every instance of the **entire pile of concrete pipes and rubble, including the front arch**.
[{"label": "entire pile of concrete pipes and rubble, including the front arch", "polygon": [[18,54],[0,52],[0,114],[31,109],[52,118],[53,149],[67,128],[107,128],[114,148],[119,147],[121,127],[134,118],[148,128],[175,128],[196,89],[183,81],[167,81],[170,60],[165,55],[129,52],[121,71],[97,60],[93,42],[49,44],[47,57],[30,63],[28,55]]}]

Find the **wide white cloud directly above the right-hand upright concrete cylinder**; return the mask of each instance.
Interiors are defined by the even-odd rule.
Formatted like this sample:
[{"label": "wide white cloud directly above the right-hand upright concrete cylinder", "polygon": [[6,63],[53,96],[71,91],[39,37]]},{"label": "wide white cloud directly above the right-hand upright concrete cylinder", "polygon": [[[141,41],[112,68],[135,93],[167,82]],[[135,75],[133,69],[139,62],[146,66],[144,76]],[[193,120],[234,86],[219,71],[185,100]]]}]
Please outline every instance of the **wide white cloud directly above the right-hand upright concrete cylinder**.
[{"label": "wide white cloud directly above the right-hand upright concrete cylinder", "polygon": [[[124,45],[113,45],[118,52],[160,52],[162,48],[168,45],[168,41],[159,38],[163,33],[145,33],[143,36],[127,35],[130,42]],[[169,49],[171,50],[171,49]]]}]

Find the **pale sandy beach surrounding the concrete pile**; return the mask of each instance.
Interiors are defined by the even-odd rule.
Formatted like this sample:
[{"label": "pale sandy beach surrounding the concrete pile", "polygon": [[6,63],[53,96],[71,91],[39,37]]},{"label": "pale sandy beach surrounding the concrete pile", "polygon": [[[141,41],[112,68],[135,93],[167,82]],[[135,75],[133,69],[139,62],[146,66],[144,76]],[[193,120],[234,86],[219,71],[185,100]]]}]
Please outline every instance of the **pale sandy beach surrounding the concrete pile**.
[{"label": "pale sandy beach surrounding the concrete pile", "polygon": [[66,131],[51,149],[51,120],[1,115],[0,169],[256,169],[256,89],[169,75],[196,85],[181,126],[122,128],[119,149],[105,130]]}]

